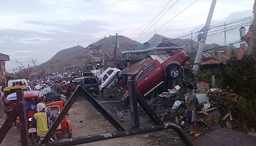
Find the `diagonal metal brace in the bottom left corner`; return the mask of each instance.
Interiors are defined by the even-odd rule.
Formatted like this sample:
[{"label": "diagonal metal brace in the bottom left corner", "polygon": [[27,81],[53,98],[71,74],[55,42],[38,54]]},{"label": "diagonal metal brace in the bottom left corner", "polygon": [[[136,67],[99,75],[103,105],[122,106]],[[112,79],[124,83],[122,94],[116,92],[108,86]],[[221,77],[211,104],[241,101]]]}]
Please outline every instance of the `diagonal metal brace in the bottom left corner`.
[{"label": "diagonal metal brace in the bottom left corner", "polygon": [[10,112],[7,119],[3,123],[2,127],[0,128],[0,144],[5,138],[5,135],[7,134],[8,130],[12,126],[13,121],[15,121],[16,116],[17,116],[17,104],[13,106],[12,111]]}]

